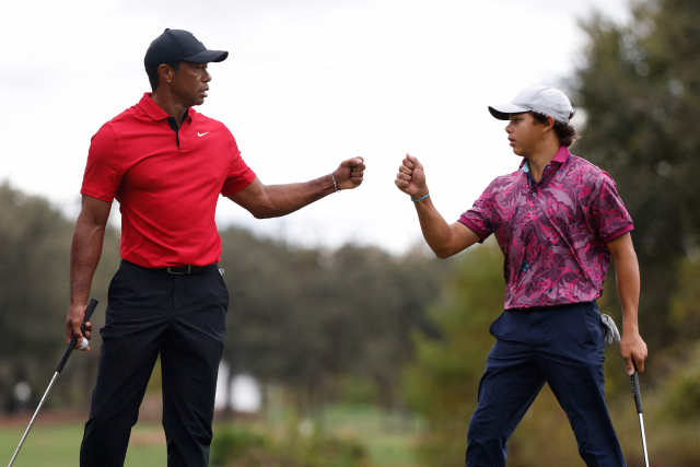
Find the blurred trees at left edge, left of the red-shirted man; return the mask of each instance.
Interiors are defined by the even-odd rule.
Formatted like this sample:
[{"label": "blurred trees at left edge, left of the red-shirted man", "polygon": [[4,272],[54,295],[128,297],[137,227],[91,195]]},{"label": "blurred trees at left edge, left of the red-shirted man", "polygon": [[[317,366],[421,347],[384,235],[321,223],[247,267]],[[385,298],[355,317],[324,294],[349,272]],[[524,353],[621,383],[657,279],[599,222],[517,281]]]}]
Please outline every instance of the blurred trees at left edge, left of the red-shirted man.
[{"label": "blurred trees at left edge, left of the red-shirted man", "polygon": [[[36,404],[66,350],[68,260],[74,224],[47,200],[26,196],[7,183],[0,185],[0,400],[7,402],[12,387],[27,381]],[[118,238],[110,229],[102,262],[118,260],[115,243],[118,245]],[[104,269],[96,273],[93,287],[102,306],[108,281]],[[100,319],[104,318],[95,316],[94,320]],[[100,349],[98,337],[92,346]],[[63,373],[65,384],[52,392],[49,405],[61,399],[62,404],[86,404],[90,392],[85,388],[92,389],[96,353],[71,360]]]}]

